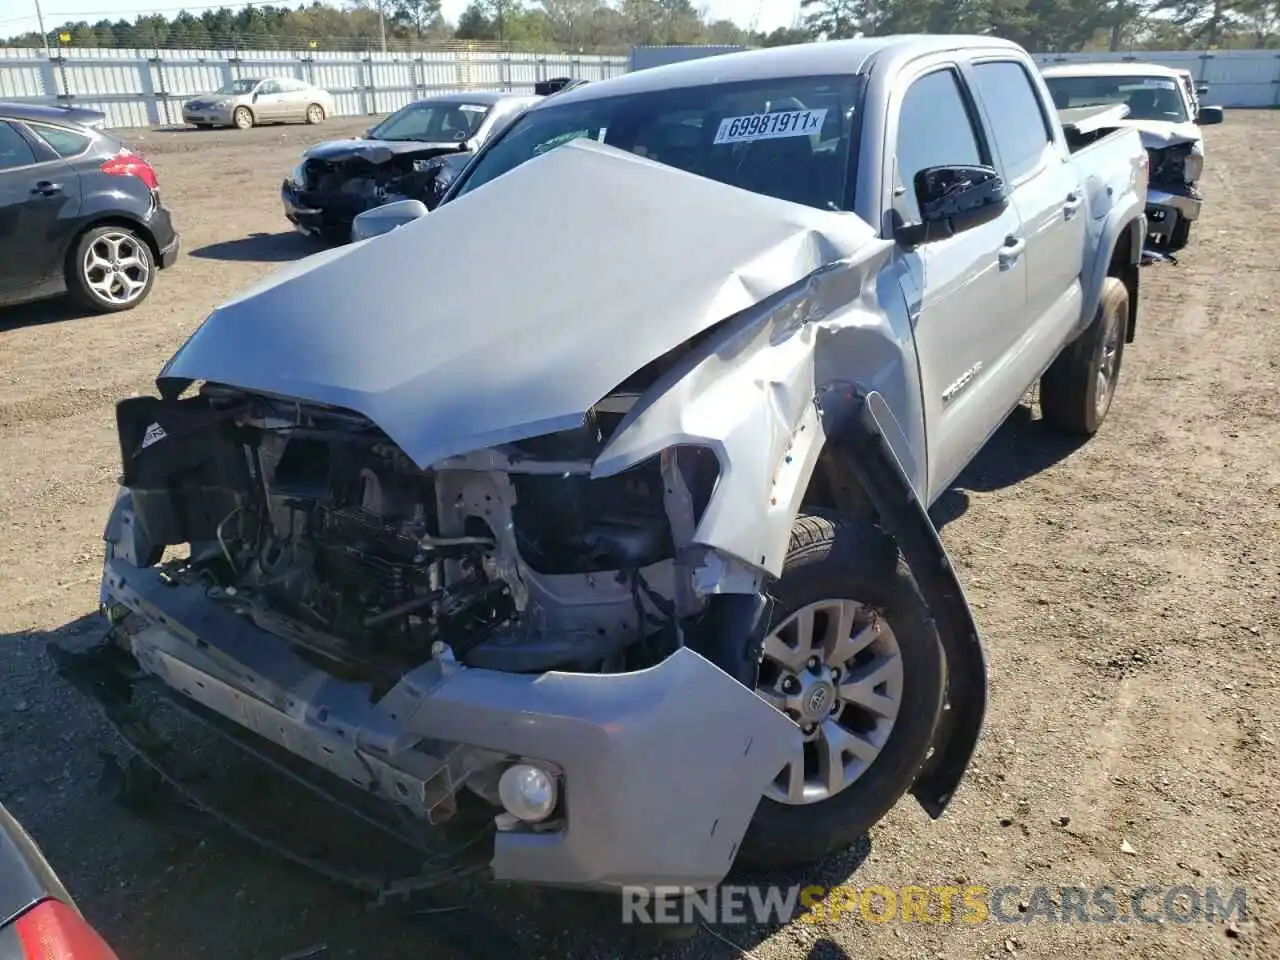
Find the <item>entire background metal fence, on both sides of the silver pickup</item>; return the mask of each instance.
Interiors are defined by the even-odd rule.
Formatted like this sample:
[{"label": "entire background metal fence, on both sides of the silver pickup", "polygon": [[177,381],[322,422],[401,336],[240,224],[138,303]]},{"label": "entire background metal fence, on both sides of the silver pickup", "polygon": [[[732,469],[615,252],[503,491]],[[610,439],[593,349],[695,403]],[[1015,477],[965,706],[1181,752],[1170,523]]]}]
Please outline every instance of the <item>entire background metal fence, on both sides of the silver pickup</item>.
[{"label": "entire background metal fence, on both sides of the silver pickup", "polygon": [[[274,74],[326,87],[340,115],[383,114],[444,90],[529,91],[540,79],[605,79],[628,69],[733,47],[649,47],[631,58],[494,51],[352,54],[335,51],[0,49],[0,100],[76,104],[101,110],[111,127],[182,123],[182,101],[237,77]],[[1185,68],[1210,84],[1207,102],[1280,106],[1280,52],[1275,50],[1160,50],[1149,52],[1037,54],[1041,64],[1146,60]]]}]

